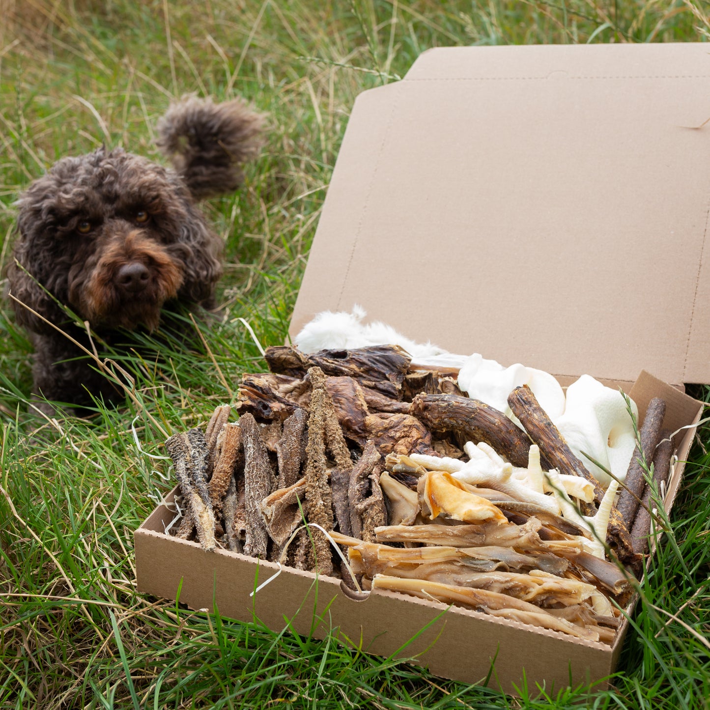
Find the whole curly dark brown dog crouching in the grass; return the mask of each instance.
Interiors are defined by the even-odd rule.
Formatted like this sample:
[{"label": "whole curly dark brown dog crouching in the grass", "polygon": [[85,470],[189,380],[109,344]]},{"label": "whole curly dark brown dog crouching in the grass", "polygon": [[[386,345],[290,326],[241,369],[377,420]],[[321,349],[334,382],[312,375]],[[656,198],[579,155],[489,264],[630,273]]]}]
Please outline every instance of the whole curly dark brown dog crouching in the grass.
[{"label": "whole curly dark brown dog crouching in the grass", "polygon": [[[239,99],[188,97],[158,124],[158,147],[173,169],[99,148],[62,158],[23,192],[8,278],[22,304],[13,301],[17,321],[35,344],[33,393],[84,404],[114,391],[31,310],[67,329],[65,305],[111,344],[118,328],[155,329],[170,301],[214,305],[222,240],[195,200],[239,185],[239,166],[261,147],[262,123]],[[89,346],[77,328],[67,332]]]}]

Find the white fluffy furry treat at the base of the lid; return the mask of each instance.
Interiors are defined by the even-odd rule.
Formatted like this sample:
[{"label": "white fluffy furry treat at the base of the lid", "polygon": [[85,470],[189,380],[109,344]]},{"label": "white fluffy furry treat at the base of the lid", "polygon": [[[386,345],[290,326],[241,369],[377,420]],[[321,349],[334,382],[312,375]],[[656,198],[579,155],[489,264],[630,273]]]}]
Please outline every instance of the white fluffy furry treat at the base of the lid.
[{"label": "white fluffy furry treat at the base of the lid", "polygon": [[[354,305],[351,313],[323,311],[305,324],[294,339],[295,346],[302,352],[315,353],[319,350],[351,350],[371,345],[399,345],[403,347],[418,364],[428,364],[428,359],[448,355],[447,351],[430,342],[415,343],[393,327],[381,322],[363,323],[366,312],[359,305]],[[463,358],[461,359],[463,360]],[[445,360],[444,360],[445,361]],[[448,366],[455,366],[445,361]]]}]

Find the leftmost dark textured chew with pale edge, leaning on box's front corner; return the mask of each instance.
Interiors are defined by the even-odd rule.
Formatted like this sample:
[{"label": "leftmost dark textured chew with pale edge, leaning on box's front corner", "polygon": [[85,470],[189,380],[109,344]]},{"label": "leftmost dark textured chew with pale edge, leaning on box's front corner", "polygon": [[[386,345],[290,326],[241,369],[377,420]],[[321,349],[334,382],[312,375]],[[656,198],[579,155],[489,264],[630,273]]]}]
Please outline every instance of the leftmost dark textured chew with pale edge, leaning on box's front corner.
[{"label": "leftmost dark textured chew with pale edge, leaning on box's front corner", "polygon": [[204,435],[199,429],[190,429],[170,437],[165,448],[173,459],[175,477],[197,528],[197,539],[204,550],[214,550],[214,513],[207,489],[208,452]]}]

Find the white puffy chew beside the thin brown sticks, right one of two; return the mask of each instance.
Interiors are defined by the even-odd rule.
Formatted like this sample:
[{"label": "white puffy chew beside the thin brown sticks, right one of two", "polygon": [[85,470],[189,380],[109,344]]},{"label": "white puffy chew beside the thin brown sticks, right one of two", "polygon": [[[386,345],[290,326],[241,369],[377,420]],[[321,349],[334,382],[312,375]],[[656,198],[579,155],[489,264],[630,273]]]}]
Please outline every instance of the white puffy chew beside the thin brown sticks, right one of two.
[{"label": "white puffy chew beside the thin brown sticks, right one of two", "polygon": [[[635,403],[631,403],[631,408],[638,417]],[[582,452],[599,461],[621,481],[626,478],[636,441],[621,392],[603,386],[589,375],[582,375],[567,388],[564,414],[551,418],[574,455],[604,488],[611,484],[611,479]]]}]

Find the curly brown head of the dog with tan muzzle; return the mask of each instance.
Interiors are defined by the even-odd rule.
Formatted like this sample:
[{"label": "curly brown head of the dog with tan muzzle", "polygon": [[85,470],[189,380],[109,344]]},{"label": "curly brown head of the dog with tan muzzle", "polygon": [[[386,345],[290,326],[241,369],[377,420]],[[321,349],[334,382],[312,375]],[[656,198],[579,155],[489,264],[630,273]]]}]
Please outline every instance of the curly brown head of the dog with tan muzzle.
[{"label": "curly brown head of the dog with tan muzzle", "polygon": [[[18,200],[11,293],[51,322],[54,299],[94,328],[158,325],[165,301],[209,304],[221,241],[181,176],[120,148],[63,158]],[[15,304],[18,321],[48,326]]]}]

